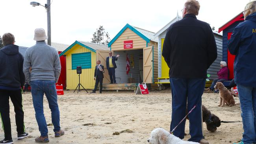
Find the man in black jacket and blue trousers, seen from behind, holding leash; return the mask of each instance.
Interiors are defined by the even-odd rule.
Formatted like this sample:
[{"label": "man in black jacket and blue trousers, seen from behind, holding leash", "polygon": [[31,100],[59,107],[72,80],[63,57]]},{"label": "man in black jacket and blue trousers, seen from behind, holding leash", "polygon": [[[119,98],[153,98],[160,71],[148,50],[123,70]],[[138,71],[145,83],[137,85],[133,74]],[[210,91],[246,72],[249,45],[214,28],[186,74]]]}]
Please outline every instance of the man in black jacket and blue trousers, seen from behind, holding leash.
[{"label": "man in black jacket and blue trousers, seen from behind, holding leash", "polygon": [[[172,88],[171,130],[185,117],[186,105],[189,114],[189,141],[208,144],[201,140],[201,105],[207,69],[217,58],[217,46],[211,27],[197,20],[200,4],[187,0],[182,11],[183,19],[175,22],[167,30],[162,55],[169,66]],[[174,135],[184,138],[185,121],[174,131]]]}]

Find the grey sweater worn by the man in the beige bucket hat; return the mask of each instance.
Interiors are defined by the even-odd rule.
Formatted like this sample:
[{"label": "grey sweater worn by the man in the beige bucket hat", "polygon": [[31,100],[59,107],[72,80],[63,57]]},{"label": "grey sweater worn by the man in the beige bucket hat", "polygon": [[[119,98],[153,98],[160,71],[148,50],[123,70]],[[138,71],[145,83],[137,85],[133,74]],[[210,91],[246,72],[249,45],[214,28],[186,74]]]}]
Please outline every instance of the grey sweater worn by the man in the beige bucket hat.
[{"label": "grey sweater worn by the man in the beige bucket hat", "polygon": [[31,66],[30,77],[26,75],[28,81],[34,80],[54,80],[58,81],[61,66],[58,51],[45,43],[37,41],[37,44],[28,48],[24,58],[24,69]]}]

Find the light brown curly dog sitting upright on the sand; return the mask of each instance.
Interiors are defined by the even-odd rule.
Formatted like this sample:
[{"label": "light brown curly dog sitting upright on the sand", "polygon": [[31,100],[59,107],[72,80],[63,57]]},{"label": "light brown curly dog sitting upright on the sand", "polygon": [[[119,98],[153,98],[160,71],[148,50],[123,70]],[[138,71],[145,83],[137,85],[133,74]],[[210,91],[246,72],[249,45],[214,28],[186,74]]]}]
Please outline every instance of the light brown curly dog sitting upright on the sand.
[{"label": "light brown curly dog sitting upright on the sand", "polygon": [[225,103],[230,107],[235,105],[236,102],[232,96],[232,93],[226,87],[224,87],[223,83],[217,82],[214,88],[219,90],[220,101],[218,106],[223,107]]}]

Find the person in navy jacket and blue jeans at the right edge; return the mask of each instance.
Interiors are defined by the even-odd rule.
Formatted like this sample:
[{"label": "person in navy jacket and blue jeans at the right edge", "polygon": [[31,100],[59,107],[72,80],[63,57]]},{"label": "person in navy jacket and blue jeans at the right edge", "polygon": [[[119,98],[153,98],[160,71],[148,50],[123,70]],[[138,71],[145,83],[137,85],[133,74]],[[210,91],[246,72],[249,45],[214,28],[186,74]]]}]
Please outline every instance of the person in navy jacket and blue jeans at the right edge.
[{"label": "person in navy jacket and blue jeans at the right edge", "polygon": [[236,55],[234,78],[243,119],[243,139],[239,144],[256,143],[256,0],[243,11],[245,21],[233,31],[228,50]]}]

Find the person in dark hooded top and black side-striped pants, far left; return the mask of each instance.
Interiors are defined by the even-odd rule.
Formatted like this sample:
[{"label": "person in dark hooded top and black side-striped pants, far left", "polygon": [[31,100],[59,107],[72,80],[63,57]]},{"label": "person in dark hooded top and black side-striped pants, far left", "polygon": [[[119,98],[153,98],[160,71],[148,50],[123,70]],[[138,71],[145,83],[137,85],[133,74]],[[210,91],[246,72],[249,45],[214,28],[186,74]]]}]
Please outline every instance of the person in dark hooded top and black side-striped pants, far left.
[{"label": "person in dark hooded top and black side-striped pants, far left", "polygon": [[21,87],[25,83],[23,56],[19,53],[19,46],[14,45],[15,37],[13,34],[5,33],[2,41],[4,47],[0,49],[0,116],[5,137],[4,140],[0,141],[0,144],[13,144],[9,97],[14,106],[18,139],[28,137],[28,133],[25,132],[21,95]]}]

